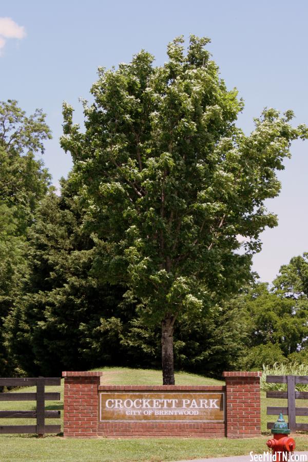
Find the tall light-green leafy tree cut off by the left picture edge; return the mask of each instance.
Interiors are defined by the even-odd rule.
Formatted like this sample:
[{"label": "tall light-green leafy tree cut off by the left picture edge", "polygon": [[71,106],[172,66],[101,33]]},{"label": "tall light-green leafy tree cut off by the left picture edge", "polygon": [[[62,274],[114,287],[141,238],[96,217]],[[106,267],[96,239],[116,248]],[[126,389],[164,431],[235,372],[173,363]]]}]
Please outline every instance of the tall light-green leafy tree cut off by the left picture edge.
[{"label": "tall light-green leafy tree cut off by the left picture edge", "polygon": [[[42,160],[34,157],[37,151],[44,152],[43,140],[48,138],[41,110],[27,117],[16,101],[0,102],[0,335],[25,275],[27,228],[49,186]],[[1,373],[11,374],[3,341],[1,348]]]}]

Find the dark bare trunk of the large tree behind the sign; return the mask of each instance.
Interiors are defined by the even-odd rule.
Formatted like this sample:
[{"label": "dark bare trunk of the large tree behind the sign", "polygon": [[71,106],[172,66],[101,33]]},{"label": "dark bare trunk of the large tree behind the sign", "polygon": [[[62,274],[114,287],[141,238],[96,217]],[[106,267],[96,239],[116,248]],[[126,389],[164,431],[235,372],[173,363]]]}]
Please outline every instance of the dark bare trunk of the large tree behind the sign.
[{"label": "dark bare trunk of the large tree behind the sign", "polygon": [[162,368],[163,385],[175,384],[173,356],[174,318],[165,317],[162,321]]}]

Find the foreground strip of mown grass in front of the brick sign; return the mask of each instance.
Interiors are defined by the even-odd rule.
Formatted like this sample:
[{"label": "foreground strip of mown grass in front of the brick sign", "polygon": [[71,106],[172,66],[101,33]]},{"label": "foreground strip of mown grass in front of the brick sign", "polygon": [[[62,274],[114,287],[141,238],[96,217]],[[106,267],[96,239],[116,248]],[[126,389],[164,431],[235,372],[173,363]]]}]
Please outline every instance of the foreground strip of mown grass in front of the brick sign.
[{"label": "foreground strip of mown grass in front of the brick sign", "polygon": [[[111,462],[182,460],[263,453],[266,438],[245,439],[65,439],[61,437],[0,438],[1,462]],[[296,438],[299,451],[308,450],[306,438]]]}]

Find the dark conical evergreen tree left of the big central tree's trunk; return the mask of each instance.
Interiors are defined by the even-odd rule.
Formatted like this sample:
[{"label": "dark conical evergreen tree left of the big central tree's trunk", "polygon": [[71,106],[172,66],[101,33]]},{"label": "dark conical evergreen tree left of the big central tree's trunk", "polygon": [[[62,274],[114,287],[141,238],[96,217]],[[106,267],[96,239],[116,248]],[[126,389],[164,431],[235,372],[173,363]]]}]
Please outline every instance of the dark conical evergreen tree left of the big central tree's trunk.
[{"label": "dark conical evergreen tree left of the big central tree's trunk", "polygon": [[[6,319],[10,357],[27,374],[57,375],[122,359],[121,288],[97,283],[95,247],[69,180],[50,192],[28,230],[27,271]],[[98,339],[99,337],[99,339]]]}]

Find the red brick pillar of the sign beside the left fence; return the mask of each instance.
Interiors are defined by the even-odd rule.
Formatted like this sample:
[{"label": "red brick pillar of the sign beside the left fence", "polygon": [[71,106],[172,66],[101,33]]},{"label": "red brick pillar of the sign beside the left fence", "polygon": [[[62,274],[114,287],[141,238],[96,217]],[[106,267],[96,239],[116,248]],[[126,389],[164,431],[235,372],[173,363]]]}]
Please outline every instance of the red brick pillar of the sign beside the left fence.
[{"label": "red brick pillar of the sign beside the left fence", "polygon": [[62,372],[64,436],[98,435],[99,385],[103,372]]}]

